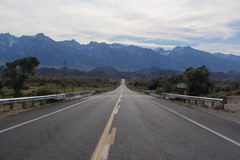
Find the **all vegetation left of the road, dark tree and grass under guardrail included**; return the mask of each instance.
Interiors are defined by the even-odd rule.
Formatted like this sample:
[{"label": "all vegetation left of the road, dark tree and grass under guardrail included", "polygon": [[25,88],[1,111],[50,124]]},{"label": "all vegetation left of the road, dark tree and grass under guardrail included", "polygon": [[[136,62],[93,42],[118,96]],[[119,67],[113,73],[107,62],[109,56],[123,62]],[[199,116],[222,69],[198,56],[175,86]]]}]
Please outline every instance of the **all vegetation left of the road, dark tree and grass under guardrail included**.
[{"label": "all vegetation left of the road, dark tree and grass under guardrail included", "polygon": [[[120,85],[120,79],[80,77],[70,75],[36,75],[34,69],[39,65],[35,57],[19,59],[6,63],[7,69],[0,76],[0,99],[13,97],[42,96],[68,92],[95,90],[96,93],[111,91]],[[0,117],[32,109],[32,102],[0,105]],[[40,106],[40,102],[34,103]]]}]

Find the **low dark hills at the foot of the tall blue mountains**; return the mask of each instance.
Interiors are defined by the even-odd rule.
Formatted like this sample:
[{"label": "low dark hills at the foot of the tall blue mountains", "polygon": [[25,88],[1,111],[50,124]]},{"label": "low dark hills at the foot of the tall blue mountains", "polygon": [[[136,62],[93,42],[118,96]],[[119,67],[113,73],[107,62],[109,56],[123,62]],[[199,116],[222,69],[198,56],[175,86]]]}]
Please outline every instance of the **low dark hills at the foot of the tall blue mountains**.
[{"label": "low dark hills at the foot of the tall blue mountains", "polygon": [[[5,66],[0,66],[0,75],[5,70]],[[167,78],[173,75],[180,74],[177,70],[164,70],[158,67],[150,67],[132,72],[124,72],[112,67],[96,67],[90,71],[82,71],[79,69],[69,69],[66,67],[42,67],[36,69],[36,74],[40,75],[75,75],[89,77],[108,77],[108,78],[124,78],[124,79],[157,79],[160,77]],[[210,77],[213,81],[240,81],[240,72],[230,71],[210,72]]]}]

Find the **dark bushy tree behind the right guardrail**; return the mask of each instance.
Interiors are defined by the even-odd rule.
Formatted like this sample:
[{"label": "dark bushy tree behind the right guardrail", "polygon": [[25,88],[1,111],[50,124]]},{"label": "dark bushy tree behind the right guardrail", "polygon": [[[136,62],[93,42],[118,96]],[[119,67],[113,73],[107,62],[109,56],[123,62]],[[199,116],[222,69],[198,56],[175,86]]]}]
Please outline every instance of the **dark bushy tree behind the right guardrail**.
[{"label": "dark bushy tree behind the right guardrail", "polygon": [[208,93],[211,83],[209,81],[209,71],[205,65],[196,69],[187,68],[184,77],[190,95],[199,96]]}]

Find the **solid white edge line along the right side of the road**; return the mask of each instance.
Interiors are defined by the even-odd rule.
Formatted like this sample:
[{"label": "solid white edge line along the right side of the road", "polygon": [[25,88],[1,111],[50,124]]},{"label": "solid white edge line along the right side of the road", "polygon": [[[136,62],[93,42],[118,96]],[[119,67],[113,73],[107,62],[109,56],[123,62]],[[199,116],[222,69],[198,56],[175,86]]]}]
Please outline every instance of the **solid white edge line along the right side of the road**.
[{"label": "solid white edge line along the right side of the road", "polygon": [[162,104],[159,104],[159,103],[157,103],[157,102],[155,102],[155,101],[153,101],[153,100],[151,100],[149,98],[146,98],[146,97],[144,97],[144,98],[148,99],[149,101],[151,101],[151,102],[153,102],[153,103],[155,103],[155,104],[157,104],[157,105],[159,105],[159,106],[169,110],[170,112],[172,112],[172,113],[174,113],[174,114],[176,114],[176,115],[178,115],[178,116],[180,116],[180,117],[182,117],[182,118],[184,118],[184,119],[186,119],[186,120],[196,124],[197,126],[199,126],[199,127],[203,128],[203,129],[205,129],[205,130],[207,130],[207,131],[209,131],[209,132],[211,132],[211,133],[213,133],[213,134],[215,134],[215,135],[217,135],[217,136],[227,140],[228,142],[231,142],[231,143],[237,145],[238,147],[240,147],[240,143],[239,142],[237,142],[237,141],[235,141],[235,140],[233,140],[233,139],[231,139],[231,138],[229,138],[227,136],[224,136],[223,134],[221,134],[221,133],[219,133],[217,131],[214,131],[214,130],[212,130],[212,129],[210,129],[210,128],[208,128],[208,127],[206,127],[206,126],[204,126],[204,125],[202,125],[202,124],[200,124],[200,123],[198,123],[198,122],[196,122],[196,121],[194,121],[194,120],[192,120],[192,119],[190,119],[190,118],[188,118],[188,117],[186,117],[186,116],[184,116],[184,115],[182,115],[182,114],[180,114],[180,113],[178,113],[178,112],[176,112],[176,111],[174,111],[174,110],[172,110],[172,109],[170,109],[170,108],[168,108],[168,107],[166,107],[166,106],[164,106]]}]

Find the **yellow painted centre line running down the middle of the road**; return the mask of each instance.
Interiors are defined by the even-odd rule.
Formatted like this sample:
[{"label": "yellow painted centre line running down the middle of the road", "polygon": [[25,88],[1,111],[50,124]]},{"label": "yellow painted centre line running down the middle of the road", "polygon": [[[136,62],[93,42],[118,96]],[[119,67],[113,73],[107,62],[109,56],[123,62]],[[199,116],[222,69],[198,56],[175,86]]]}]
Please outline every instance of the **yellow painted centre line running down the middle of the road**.
[{"label": "yellow painted centre line running down the middle of the road", "polygon": [[[115,113],[117,111],[119,102],[122,98],[122,93],[123,93],[123,88],[122,88],[121,94],[113,108],[111,116],[108,119],[108,122],[103,130],[103,133],[97,143],[97,146],[91,156],[91,160],[107,160],[107,158],[108,158],[108,153],[109,153],[110,145],[111,145],[111,133],[109,133],[109,132],[111,130],[113,119],[115,117]],[[112,133],[116,134],[116,131],[112,130]],[[114,139],[115,139],[115,135],[114,135]]]}]

